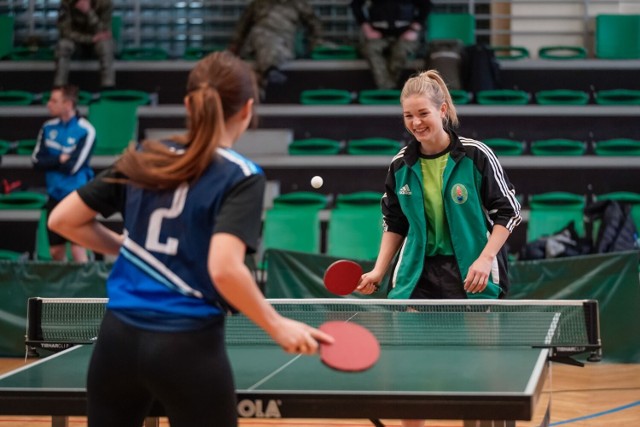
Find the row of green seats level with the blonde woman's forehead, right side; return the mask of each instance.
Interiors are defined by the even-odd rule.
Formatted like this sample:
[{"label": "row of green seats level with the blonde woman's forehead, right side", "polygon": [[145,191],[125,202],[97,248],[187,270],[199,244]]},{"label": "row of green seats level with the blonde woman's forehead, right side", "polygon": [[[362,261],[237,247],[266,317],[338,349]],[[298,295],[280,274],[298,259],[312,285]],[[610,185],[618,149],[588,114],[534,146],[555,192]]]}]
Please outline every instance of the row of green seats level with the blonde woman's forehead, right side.
[{"label": "row of green seats level with the blonde woman's forehead, right side", "polygon": [[[541,90],[531,94],[519,89],[482,90],[475,94],[466,90],[451,90],[454,104],[476,102],[480,105],[587,105],[591,103],[589,92],[573,89]],[[304,105],[347,105],[357,101],[364,105],[399,105],[400,90],[367,89],[353,93],[346,89],[307,89],[300,93]],[[598,105],[640,105],[640,90],[606,89],[593,93]]]}]

